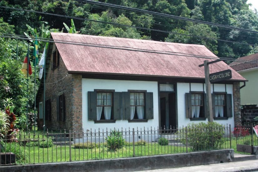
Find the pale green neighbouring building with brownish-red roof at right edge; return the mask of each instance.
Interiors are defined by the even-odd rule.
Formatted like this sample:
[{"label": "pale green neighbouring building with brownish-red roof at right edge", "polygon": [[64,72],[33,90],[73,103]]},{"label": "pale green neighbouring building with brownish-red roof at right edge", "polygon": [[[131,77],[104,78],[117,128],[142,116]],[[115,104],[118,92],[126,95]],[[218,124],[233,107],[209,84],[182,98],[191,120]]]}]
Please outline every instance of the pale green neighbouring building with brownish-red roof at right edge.
[{"label": "pale green neighbouring building with brownish-red roof at right edge", "polygon": [[246,62],[232,62],[230,67],[248,80],[240,91],[241,104],[258,104],[258,53],[240,57],[238,60]]}]

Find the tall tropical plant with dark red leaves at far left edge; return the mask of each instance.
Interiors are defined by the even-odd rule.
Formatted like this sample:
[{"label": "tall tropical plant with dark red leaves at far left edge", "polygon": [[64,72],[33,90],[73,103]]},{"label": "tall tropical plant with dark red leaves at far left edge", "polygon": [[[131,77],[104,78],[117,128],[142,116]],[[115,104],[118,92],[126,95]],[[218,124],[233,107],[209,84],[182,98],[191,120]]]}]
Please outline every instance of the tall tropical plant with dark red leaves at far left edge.
[{"label": "tall tropical plant with dark red leaves at far left edge", "polygon": [[13,104],[13,99],[12,98],[6,98],[5,100],[2,100],[4,108],[5,108],[5,113],[7,114],[8,118],[8,122],[9,124],[6,127],[6,131],[4,131],[5,135],[5,140],[7,142],[18,142],[17,138],[16,138],[16,134],[18,133],[19,129],[15,129],[14,125],[15,125],[15,114],[13,113],[13,109],[14,109],[14,104]]}]

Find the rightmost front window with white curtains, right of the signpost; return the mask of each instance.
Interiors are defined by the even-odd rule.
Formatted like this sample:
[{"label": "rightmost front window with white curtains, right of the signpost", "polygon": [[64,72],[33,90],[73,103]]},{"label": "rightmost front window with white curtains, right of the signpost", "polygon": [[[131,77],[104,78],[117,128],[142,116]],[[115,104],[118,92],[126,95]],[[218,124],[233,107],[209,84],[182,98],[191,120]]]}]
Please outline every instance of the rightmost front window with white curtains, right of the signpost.
[{"label": "rightmost front window with white curtains, right of the signpost", "polygon": [[225,94],[215,94],[215,117],[224,117]]}]

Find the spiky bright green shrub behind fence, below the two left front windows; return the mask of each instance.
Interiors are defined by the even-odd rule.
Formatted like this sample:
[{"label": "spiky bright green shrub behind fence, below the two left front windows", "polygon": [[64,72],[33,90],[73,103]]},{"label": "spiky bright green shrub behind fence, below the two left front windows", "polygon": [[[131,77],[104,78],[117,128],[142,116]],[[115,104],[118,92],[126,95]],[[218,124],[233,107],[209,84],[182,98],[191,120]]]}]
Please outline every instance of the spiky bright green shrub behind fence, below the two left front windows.
[{"label": "spiky bright green shrub behind fence, below the two left front windows", "polygon": [[123,139],[122,133],[115,130],[105,138],[105,141],[110,150],[119,149],[125,145],[125,139]]}]

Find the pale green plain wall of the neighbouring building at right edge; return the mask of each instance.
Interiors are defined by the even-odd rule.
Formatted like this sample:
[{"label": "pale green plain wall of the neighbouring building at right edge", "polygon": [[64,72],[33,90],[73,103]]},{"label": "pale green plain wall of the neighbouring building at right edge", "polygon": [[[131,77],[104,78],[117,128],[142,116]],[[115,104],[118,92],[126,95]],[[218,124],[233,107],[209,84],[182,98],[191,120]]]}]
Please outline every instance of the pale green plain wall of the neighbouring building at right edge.
[{"label": "pale green plain wall of the neighbouring building at right edge", "polygon": [[238,73],[248,80],[245,87],[240,89],[241,104],[258,104],[258,68]]}]

